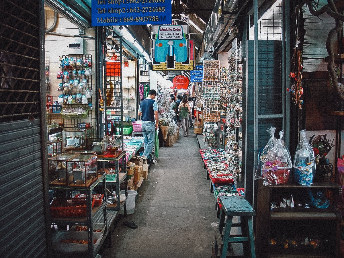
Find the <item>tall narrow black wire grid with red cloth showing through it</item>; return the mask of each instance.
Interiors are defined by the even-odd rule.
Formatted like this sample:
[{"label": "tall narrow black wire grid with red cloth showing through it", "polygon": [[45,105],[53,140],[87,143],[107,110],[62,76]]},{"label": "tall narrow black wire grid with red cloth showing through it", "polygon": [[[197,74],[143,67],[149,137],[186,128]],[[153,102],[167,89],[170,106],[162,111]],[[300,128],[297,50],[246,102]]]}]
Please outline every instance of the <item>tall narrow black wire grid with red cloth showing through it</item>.
[{"label": "tall narrow black wire grid with red cloth showing through it", "polygon": [[106,29],[105,50],[105,132],[108,135],[123,135],[123,94],[122,94],[122,37]]}]

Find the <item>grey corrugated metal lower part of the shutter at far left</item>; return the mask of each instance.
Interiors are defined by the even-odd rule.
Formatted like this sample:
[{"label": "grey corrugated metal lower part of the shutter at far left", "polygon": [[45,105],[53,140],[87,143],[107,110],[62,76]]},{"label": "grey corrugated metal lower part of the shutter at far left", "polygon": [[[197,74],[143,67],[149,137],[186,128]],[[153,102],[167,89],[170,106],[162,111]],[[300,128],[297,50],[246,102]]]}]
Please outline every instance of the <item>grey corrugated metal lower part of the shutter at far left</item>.
[{"label": "grey corrugated metal lower part of the shutter at far left", "polygon": [[40,120],[0,123],[1,257],[46,257]]}]

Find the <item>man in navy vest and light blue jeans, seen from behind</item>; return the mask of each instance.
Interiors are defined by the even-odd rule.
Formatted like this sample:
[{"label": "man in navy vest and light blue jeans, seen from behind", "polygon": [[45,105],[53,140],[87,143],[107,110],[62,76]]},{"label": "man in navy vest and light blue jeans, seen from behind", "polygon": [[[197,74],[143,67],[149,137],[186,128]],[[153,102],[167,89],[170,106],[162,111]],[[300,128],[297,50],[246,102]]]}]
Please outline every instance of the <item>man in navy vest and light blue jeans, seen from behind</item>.
[{"label": "man in navy vest and light blue jeans, seen from behind", "polygon": [[147,163],[155,163],[152,150],[155,140],[155,130],[159,127],[158,103],[154,100],[157,92],[149,90],[148,97],[141,101],[138,115],[142,115],[142,134],[144,137],[143,159],[148,159]]}]

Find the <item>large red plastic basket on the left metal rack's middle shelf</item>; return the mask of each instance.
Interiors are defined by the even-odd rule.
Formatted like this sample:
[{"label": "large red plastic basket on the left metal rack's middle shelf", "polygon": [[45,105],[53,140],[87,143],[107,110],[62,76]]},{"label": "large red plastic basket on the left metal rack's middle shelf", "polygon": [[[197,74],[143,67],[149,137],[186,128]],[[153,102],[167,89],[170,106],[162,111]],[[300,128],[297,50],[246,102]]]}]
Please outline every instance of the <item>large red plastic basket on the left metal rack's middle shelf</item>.
[{"label": "large red plastic basket on the left metal rack's middle shelf", "polygon": [[[95,199],[92,198],[92,207],[94,201]],[[86,198],[55,198],[50,205],[50,212],[55,218],[86,217],[86,208]]]}]

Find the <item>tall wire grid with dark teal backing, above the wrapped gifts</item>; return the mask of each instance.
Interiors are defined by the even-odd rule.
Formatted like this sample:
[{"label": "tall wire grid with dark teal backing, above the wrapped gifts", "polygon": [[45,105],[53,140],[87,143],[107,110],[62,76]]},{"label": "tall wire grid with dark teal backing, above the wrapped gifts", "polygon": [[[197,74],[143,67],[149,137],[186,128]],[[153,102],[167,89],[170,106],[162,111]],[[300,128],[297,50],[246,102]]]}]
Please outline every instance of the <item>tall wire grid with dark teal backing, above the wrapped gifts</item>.
[{"label": "tall wire grid with dark teal backing, above the wrapped gifts", "polygon": [[[282,1],[258,0],[258,149],[270,136],[266,130],[273,126],[278,132],[283,124],[282,87]],[[250,39],[254,39],[254,26]],[[275,118],[271,118],[275,116]]]}]

